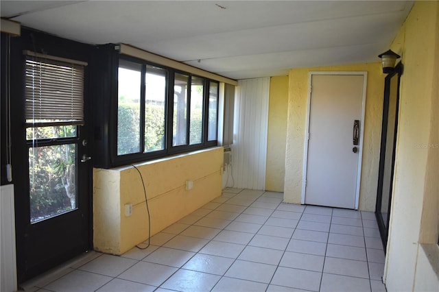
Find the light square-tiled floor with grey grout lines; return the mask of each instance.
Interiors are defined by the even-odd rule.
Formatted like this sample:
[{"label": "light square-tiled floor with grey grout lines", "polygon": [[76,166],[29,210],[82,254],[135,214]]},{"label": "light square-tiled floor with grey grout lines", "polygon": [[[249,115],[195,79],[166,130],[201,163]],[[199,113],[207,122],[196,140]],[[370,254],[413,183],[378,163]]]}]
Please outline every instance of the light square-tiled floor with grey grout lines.
[{"label": "light square-tiled floor with grey grout lines", "polygon": [[[385,291],[372,212],[228,188],[122,256],[89,252],[27,291]],[[26,286],[26,285],[25,285]]]}]

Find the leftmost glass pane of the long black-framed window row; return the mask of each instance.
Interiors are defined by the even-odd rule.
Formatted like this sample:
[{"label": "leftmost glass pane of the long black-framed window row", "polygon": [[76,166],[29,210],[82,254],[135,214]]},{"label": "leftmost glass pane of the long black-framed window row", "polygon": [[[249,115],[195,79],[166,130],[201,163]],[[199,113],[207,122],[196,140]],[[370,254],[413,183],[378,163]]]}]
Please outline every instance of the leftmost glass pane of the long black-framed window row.
[{"label": "leftmost glass pane of the long black-framed window row", "polygon": [[117,155],[140,152],[141,64],[119,61]]}]

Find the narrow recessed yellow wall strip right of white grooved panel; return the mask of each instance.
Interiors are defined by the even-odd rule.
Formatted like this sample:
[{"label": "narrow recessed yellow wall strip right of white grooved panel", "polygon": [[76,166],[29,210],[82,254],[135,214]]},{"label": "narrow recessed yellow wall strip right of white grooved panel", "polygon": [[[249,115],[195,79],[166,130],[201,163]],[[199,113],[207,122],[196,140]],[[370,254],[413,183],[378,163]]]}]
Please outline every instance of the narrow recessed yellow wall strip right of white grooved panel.
[{"label": "narrow recessed yellow wall strip right of white grooved panel", "polygon": [[287,134],[288,76],[270,78],[265,190],[283,192]]}]

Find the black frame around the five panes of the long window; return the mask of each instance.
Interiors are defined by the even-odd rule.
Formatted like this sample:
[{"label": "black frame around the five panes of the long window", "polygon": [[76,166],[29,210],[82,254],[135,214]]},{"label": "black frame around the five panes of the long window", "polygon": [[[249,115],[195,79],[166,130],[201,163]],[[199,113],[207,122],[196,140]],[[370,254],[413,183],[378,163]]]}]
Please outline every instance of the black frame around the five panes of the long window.
[{"label": "black frame around the five panes of the long window", "polygon": [[[113,84],[112,88],[112,110],[111,115],[113,115],[114,119],[112,119],[112,138],[110,141],[110,147],[112,147],[112,151],[110,151],[111,157],[111,167],[118,167],[122,165],[130,165],[135,162],[144,162],[148,160],[154,160],[157,158],[163,158],[166,156],[171,156],[175,154],[182,154],[191,151],[197,151],[200,149],[206,149],[209,147],[217,146],[217,138],[213,141],[208,141],[208,126],[209,126],[209,86],[212,82],[217,84],[217,95],[219,96],[219,81],[211,80],[207,77],[202,77],[199,75],[195,75],[189,72],[180,71],[178,69],[171,68],[169,66],[163,66],[161,64],[155,64],[154,62],[148,62],[143,59],[135,58],[128,55],[118,54],[117,62],[115,62],[114,66],[112,66],[114,70],[114,76],[112,80],[114,80],[115,84]],[[117,131],[117,123],[119,119],[119,82],[118,82],[118,71],[119,71],[119,60],[126,60],[128,62],[134,62],[141,64],[141,88],[140,88],[140,151],[132,154],[117,154],[117,141],[118,141],[118,131]],[[146,66],[156,66],[157,68],[163,69],[167,72],[166,82],[165,82],[165,147],[162,150],[145,152],[145,73]],[[187,86],[187,141],[185,145],[176,145],[173,146],[173,119],[174,119],[174,85],[175,85],[175,74],[183,74],[187,75],[188,78],[188,86]],[[203,99],[202,99],[202,141],[201,143],[190,145],[190,114],[191,114],[191,81],[193,77],[198,77],[203,80]],[[216,129],[218,132],[218,108],[219,108],[219,98],[217,98],[217,114],[216,114]]]}]

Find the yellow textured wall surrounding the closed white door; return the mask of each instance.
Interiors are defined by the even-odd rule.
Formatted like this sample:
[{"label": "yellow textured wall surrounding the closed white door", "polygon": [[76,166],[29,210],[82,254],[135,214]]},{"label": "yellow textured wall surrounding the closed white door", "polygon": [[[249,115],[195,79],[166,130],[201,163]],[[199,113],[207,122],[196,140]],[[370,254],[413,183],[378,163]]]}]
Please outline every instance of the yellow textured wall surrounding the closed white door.
[{"label": "yellow textured wall surrounding the closed white door", "polygon": [[379,62],[289,71],[284,201],[300,204],[302,195],[309,71],[368,72],[359,209],[375,211],[384,91],[384,75]]}]

